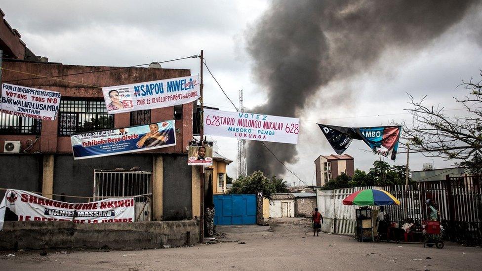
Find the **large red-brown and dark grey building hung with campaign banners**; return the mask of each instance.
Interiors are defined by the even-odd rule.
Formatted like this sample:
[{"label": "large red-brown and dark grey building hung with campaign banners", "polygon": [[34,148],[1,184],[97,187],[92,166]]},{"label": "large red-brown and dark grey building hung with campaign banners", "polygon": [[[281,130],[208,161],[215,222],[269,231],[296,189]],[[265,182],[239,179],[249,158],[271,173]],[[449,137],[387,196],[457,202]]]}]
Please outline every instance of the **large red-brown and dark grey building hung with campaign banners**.
[{"label": "large red-brown and dark grey building hung with campaign banners", "polygon": [[[0,13],[3,16],[3,12]],[[101,90],[103,86],[190,76],[190,70],[77,66],[39,62],[39,59],[32,61],[27,57],[30,50],[20,40],[20,34],[12,30],[5,20],[0,23],[0,49],[4,52],[2,68],[5,68],[2,83],[58,91],[62,95],[58,117],[53,121],[0,115],[0,188],[33,191],[57,200],[84,202],[85,198],[69,196],[92,197],[96,183],[105,187],[104,196],[152,194],[152,212],[147,215],[148,219],[196,220],[200,217],[201,174],[199,167],[187,165],[186,150],[188,142],[193,139],[196,102],[108,115]],[[62,121],[65,118],[71,121]],[[175,146],[132,154],[73,159],[71,134],[169,119],[175,120]],[[4,148],[5,141],[16,141],[20,148],[9,152]],[[98,178],[100,175],[107,175],[114,180],[113,183],[102,181],[102,178]],[[142,176],[142,183],[129,183],[125,179],[127,177],[121,177],[131,175]],[[134,192],[120,194],[119,188],[124,187],[124,181],[129,183],[128,188]],[[108,188],[109,185],[117,185],[118,189]],[[3,194],[4,191],[0,191],[1,197]]]}]

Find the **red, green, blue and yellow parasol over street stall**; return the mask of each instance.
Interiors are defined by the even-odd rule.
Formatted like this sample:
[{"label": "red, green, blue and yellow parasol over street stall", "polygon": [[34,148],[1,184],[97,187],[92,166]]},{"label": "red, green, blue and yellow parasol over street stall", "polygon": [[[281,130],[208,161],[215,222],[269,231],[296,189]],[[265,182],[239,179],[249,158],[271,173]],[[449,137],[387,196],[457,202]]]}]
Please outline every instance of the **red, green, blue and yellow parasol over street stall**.
[{"label": "red, green, blue and yellow parasol over street stall", "polygon": [[343,200],[344,205],[400,205],[400,200],[385,190],[364,189],[350,194]]}]

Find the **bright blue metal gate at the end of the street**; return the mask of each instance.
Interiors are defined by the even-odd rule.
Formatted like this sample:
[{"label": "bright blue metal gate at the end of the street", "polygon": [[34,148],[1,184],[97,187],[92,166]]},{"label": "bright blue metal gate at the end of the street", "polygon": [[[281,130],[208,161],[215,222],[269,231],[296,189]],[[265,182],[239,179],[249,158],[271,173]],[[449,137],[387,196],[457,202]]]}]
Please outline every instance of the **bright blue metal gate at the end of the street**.
[{"label": "bright blue metal gate at the end of the street", "polygon": [[256,224],[256,195],[214,195],[214,225]]}]

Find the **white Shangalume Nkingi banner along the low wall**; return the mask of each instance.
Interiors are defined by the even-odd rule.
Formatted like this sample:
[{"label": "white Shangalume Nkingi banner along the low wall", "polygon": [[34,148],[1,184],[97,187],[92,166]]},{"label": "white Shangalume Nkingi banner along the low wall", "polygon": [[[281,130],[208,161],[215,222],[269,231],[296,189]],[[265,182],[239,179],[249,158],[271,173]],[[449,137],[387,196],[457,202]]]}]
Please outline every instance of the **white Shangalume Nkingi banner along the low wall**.
[{"label": "white Shangalume Nkingi banner along the low wall", "polygon": [[[8,208],[8,209],[7,209]],[[74,221],[74,223],[133,222],[134,198],[109,198],[69,203],[32,192],[9,189],[0,203],[3,221]]]}]

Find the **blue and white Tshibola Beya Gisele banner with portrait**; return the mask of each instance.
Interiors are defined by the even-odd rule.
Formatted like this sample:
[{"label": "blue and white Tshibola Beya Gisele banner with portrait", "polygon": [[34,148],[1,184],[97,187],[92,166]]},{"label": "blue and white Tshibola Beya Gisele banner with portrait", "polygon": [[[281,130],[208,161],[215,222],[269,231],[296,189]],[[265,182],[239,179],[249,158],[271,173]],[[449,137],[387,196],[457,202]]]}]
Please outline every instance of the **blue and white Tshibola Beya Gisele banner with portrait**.
[{"label": "blue and white Tshibola Beya Gisele banner with portrait", "polygon": [[174,120],[71,135],[74,159],[135,153],[176,145]]}]

